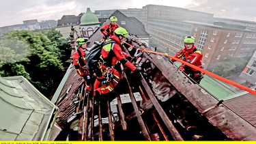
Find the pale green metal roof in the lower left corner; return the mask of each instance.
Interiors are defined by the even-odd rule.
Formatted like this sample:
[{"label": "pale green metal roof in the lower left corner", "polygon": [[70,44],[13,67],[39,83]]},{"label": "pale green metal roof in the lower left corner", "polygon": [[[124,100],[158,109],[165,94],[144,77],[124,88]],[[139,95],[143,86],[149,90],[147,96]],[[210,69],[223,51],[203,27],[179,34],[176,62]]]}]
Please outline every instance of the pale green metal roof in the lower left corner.
[{"label": "pale green metal roof in the lower left corner", "polygon": [[47,141],[56,111],[23,76],[0,77],[0,141]]}]

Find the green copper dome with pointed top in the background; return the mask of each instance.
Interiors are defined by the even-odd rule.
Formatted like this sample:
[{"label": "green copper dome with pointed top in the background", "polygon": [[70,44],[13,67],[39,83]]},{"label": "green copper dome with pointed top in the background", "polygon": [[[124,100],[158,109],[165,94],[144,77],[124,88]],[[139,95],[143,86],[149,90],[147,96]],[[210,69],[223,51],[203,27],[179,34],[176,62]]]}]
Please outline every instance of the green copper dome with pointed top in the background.
[{"label": "green copper dome with pointed top in the background", "polygon": [[81,17],[81,24],[80,25],[91,25],[91,24],[100,24],[98,16],[92,13],[90,8],[87,8],[87,11]]}]

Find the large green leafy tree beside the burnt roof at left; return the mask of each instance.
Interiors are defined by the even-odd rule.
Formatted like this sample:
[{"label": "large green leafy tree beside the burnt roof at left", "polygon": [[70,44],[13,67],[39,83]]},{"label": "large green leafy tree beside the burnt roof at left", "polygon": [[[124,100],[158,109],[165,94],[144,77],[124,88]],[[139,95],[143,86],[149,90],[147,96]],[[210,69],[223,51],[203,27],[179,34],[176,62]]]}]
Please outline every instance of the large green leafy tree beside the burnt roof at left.
[{"label": "large green leafy tree beside the burnt roof at left", "polygon": [[42,31],[7,33],[0,42],[1,76],[25,76],[44,96],[50,96],[63,77],[57,44]]}]

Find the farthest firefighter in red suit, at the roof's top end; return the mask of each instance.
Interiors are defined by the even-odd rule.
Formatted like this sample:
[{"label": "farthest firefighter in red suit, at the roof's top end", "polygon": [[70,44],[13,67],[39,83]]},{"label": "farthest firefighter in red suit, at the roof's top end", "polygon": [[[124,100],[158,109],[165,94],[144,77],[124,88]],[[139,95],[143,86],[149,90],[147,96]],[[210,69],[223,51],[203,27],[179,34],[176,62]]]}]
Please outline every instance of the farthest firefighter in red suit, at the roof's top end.
[{"label": "farthest firefighter in red suit, at the roof's top end", "polygon": [[115,29],[118,27],[119,25],[117,25],[117,17],[111,16],[110,24],[106,24],[100,29],[101,33],[104,35],[104,40],[111,38],[114,35]]}]

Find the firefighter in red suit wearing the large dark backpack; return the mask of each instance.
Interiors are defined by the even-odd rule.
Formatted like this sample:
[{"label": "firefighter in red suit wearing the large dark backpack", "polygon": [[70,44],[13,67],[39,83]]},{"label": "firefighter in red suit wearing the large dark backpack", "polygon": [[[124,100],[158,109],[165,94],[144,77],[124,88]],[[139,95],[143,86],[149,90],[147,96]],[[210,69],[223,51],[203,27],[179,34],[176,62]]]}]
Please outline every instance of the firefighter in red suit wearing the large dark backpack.
[{"label": "firefighter in red suit wearing the large dark backpack", "polygon": [[122,42],[126,39],[127,35],[128,31],[123,27],[119,27],[115,30],[115,35],[111,37],[111,40],[114,40],[115,43],[103,46],[101,51],[103,62],[100,66],[100,70],[103,74],[102,76],[96,76],[96,81],[94,83],[94,96],[96,95],[96,92],[106,94],[113,91],[114,87],[122,79],[121,72],[117,71],[119,61],[122,65],[130,68],[132,72],[137,70],[137,67],[126,59],[129,55],[124,53],[121,48]]}]

